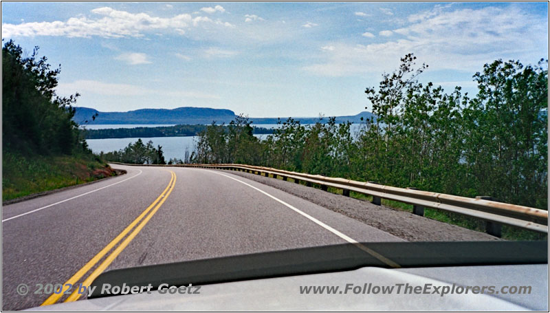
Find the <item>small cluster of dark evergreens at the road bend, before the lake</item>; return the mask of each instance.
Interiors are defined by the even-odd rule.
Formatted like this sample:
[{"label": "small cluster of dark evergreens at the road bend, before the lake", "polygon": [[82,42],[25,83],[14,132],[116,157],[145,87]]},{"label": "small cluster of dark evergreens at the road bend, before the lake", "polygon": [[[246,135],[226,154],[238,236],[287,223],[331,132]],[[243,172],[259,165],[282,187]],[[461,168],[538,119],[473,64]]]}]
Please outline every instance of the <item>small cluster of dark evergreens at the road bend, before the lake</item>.
[{"label": "small cluster of dark evergreens at the road bend, before the lake", "polygon": [[149,140],[146,144],[138,139],[136,142],[129,143],[124,149],[108,153],[100,153],[102,160],[109,162],[122,162],[131,164],[166,164],[162,146],[157,148],[153,146],[153,141]]}]

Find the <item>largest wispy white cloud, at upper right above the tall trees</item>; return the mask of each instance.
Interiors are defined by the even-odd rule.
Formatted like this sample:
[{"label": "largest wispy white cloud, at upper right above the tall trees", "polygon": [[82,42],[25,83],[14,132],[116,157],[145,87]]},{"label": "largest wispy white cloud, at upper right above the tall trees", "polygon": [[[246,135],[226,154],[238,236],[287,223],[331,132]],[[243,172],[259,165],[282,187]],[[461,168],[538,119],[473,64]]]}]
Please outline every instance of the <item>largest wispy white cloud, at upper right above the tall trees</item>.
[{"label": "largest wispy white cloud, at upper right above the tall trees", "polygon": [[[321,76],[353,76],[392,71],[399,58],[414,53],[430,70],[474,73],[485,63],[503,58],[536,63],[548,54],[548,20],[517,6],[449,10],[435,8],[407,19],[407,24],[388,31],[399,39],[358,45],[331,43],[334,50],[319,55],[303,67]],[[382,33],[382,32],[381,32]],[[384,37],[383,37],[384,38]]]}]

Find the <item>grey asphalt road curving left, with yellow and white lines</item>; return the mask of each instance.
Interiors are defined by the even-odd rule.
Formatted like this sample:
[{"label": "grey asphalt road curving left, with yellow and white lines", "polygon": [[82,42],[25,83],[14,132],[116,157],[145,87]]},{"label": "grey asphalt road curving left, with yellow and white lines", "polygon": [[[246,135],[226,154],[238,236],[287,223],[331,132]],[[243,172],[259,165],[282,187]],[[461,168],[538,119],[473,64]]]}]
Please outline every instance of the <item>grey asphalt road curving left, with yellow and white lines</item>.
[{"label": "grey asphalt road curving left, with yellow and white lines", "polygon": [[111,166],[126,175],[3,206],[3,310],[74,301],[37,284],[86,285],[104,270],[402,240],[225,171]]}]

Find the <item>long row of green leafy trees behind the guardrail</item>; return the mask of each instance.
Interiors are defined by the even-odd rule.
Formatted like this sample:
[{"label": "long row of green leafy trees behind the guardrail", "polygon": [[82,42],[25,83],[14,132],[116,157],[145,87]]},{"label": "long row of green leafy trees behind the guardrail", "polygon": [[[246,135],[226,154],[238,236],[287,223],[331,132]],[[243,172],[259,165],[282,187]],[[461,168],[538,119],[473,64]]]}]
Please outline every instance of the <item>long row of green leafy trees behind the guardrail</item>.
[{"label": "long row of green leafy trees behind the guardrail", "polygon": [[334,118],[309,127],[289,118],[258,140],[241,116],[231,131],[202,131],[192,162],[272,166],[547,209],[547,61],[486,64],[473,76],[479,91],[470,98],[461,87],[445,94],[419,83],[428,65],[415,60],[406,55],[377,89],[366,88],[377,119],[358,133]]}]

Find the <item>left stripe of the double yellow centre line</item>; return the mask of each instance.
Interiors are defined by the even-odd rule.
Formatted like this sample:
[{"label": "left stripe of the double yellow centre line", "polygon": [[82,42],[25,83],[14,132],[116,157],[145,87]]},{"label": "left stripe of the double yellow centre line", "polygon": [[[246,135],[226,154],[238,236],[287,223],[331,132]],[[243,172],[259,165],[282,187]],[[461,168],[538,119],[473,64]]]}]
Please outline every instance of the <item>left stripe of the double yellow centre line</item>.
[{"label": "left stripe of the double yellow centre line", "polygon": [[83,268],[80,268],[80,270],[78,270],[71,278],[69,278],[65,283],[63,283],[63,288],[61,292],[51,294],[41,305],[52,305],[56,303],[63,296],[63,294],[65,294],[65,292],[69,290],[69,285],[73,286],[74,284],[76,284],[84,276],[84,274],[86,274],[89,270],[91,270],[91,268],[93,268],[96,265],[96,263],[98,263],[107,254],[107,252],[111,251],[111,249],[114,246],[116,246],[116,244],[118,244],[118,242],[122,240],[130,232],[130,230],[132,230],[135,227],[135,225],[137,225],[137,223],[139,223],[140,220],[142,220],[143,217],[147,215],[147,213],[149,213],[149,211],[151,211],[151,209],[159,201],[161,201],[161,199],[162,199],[162,202],[164,203],[164,200],[168,196],[168,195],[165,195],[165,193],[168,191],[168,189],[170,189],[170,187],[173,188],[175,184],[175,178],[176,178],[175,173],[173,171],[170,171],[170,175],[171,177],[170,177],[170,182],[168,182],[168,186],[164,188],[164,191],[162,191],[162,193],[157,197],[157,199],[155,199],[155,201],[153,201],[153,203],[150,206],[148,206],[140,214],[140,216],[134,219],[134,221],[131,222],[129,226],[124,228],[124,230],[122,230],[122,232],[117,237],[115,237],[115,239],[109,242],[109,244],[107,244],[105,248],[103,248],[100,252],[98,252],[98,254],[95,257],[91,258],[91,260],[89,260],[88,263],[86,263],[86,265],[83,266]]}]

